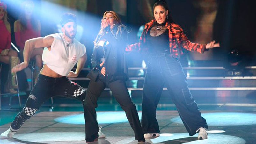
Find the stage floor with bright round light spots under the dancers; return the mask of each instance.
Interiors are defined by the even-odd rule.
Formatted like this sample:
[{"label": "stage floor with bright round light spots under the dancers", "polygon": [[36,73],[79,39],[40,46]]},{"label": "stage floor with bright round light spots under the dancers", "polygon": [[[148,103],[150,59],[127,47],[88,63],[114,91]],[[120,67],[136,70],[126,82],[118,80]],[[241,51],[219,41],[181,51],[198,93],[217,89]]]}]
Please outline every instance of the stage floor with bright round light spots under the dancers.
[{"label": "stage floor with bright round light spots under the dancers", "polygon": [[[189,137],[179,118],[175,106],[162,99],[157,108],[160,137],[146,139],[150,144],[245,144],[256,140],[255,98],[214,98],[197,99],[202,116],[207,120],[209,137],[197,140],[197,134]],[[84,144],[85,126],[82,106],[72,101],[63,104],[62,98],[55,98],[54,109],[48,103],[40,107],[31,119],[27,120],[13,139],[0,140],[0,144]],[[133,99],[141,117],[141,101]],[[23,100],[25,102],[25,100]],[[7,106],[5,108],[8,108]],[[12,109],[13,110],[13,109]],[[125,113],[115,100],[99,99],[97,119],[106,138],[99,144],[135,144],[134,133]],[[7,130],[18,111],[0,111],[0,133]]]}]

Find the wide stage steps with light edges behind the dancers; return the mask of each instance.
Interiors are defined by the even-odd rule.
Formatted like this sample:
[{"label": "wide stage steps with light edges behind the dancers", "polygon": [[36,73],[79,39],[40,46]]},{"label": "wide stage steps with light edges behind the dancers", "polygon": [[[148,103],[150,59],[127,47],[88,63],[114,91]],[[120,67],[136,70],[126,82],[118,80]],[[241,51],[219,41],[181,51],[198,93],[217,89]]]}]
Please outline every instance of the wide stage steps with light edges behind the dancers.
[{"label": "wide stage steps with light edges behind the dancers", "polygon": [[[146,68],[130,67],[128,68],[130,73],[134,73],[134,70],[144,70]],[[89,72],[90,68],[83,68],[83,71]],[[223,67],[184,67],[184,72],[187,74],[187,80],[189,89],[193,95],[208,95],[208,96],[248,96],[254,94],[256,90],[256,66],[245,67],[245,71],[249,71],[250,75],[242,76],[227,76],[227,70]],[[130,74],[129,73],[129,74]],[[138,91],[136,95],[132,97],[141,97],[143,89],[144,76],[129,76],[129,82],[127,83],[128,90]],[[86,72],[84,76],[77,78],[70,78],[85,89],[87,89],[89,79],[86,78]],[[137,85],[134,86],[131,81],[137,81]],[[109,88],[105,88],[105,91],[109,91]],[[167,90],[166,87],[163,89]],[[165,92],[163,92],[165,95]]]}]

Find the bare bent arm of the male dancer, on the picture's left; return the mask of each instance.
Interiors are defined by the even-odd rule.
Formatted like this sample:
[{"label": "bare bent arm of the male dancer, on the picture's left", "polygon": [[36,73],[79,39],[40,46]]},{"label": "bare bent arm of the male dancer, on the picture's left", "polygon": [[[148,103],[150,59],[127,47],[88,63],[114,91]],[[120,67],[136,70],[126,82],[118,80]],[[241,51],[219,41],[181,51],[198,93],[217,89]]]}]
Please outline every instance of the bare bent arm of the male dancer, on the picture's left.
[{"label": "bare bent arm of the male dancer, on the picture's left", "polygon": [[27,40],[25,42],[25,47],[23,51],[24,62],[13,67],[11,72],[15,73],[17,71],[21,71],[22,69],[26,68],[29,64],[30,55],[33,52],[33,50],[35,48],[40,48],[40,47],[51,47],[53,41],[54,41],[54,38],[51,36],[44,37],[44,38],[38,37],[38,38]]}]

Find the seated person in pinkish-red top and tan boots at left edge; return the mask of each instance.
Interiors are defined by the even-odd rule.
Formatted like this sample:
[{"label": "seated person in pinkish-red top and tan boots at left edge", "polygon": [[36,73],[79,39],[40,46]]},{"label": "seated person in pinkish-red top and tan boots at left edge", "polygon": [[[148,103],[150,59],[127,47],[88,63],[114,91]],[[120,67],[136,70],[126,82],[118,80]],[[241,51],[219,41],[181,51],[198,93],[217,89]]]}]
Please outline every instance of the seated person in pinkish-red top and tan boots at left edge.
[{"label": "seated person in pinkish-red top and tan boots at left edge", "polygon": [[17,52],[11,49],[11,27],[7,21],[6,9],[6,4],[0,3],[0,62],[10,66],[5,92],[16,93],[16,75],[11,73],[11,68],[19,64],[19,58]]}]

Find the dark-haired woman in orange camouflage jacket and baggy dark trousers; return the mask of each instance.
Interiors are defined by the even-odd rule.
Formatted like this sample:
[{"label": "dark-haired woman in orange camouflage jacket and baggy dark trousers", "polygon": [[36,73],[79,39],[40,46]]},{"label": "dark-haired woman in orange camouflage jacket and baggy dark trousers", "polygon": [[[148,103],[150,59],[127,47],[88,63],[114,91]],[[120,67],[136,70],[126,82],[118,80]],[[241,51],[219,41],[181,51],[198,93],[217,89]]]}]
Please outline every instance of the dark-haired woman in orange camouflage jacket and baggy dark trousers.
[{"label": "dark-haired woman in orange camouflage jacket and baggy dark trousers", "polygon": [[182,28],[173,22],[165,1],[157,1],[153,11],[154,19],[145,25],[139,43],[126,48],[127,51],[138,49],[149,53],[142,99],[144,137],[159,136],[156,108],[165,85],[189,135],[199,132],[198,139],[207,139],[208,125],[188,89],[179,56],[182,48],[204,53],[210,48],[219,47],[219,44],[215,44],[215,41],[206,45],[190,42]]}]

